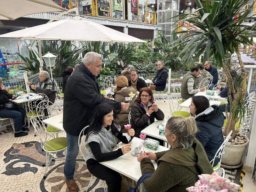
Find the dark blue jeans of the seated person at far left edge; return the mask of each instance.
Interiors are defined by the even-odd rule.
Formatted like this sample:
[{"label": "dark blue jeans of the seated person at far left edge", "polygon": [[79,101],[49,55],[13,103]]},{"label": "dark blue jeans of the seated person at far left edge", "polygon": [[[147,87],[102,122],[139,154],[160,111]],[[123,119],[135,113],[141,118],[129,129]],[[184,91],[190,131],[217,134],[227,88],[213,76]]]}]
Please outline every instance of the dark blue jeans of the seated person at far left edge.
[{"label": "dark blue jeans of the seated person at far left edge", "polygon": [[1,118],[11,118],[14,119],[14,132],[21,132],[22,125],[24,125],[26,111],[23,108],[18,107],[16,110],[7,110],[5,108],[0,109]]}]

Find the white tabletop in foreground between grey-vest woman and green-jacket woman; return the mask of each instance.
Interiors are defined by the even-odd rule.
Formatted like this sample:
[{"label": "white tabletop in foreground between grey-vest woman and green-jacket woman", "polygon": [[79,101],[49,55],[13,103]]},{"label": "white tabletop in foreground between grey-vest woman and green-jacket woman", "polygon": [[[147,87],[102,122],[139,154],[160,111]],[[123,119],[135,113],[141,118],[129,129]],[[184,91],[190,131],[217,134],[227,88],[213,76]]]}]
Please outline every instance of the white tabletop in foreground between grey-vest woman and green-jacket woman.
[{"label": "white tabletop in foreground between grey-vest woman and green-jacket woman", "polygon": [[[132,145],[131,149],[133,150],[135,147],[138,147],[141,143],[141,139],[134,137],[132,139]],[[119,172],[132,180],[138,181],[141,177],[141,171],[140,171],[140,163],[137,161],[137,156],[132,155],[132,150],[129,153],[126,153],[117,159],[113,159],[110,161],[104,161],[100,162],[100,164],[105,165],[106,167]],[[143,150],[143,148],[142,148]],[[153,153],[159,152],[159,151],[166,151],[169,150],[169,148],[159,146],[159,149],[157,151],[150,150],[148,148],[144,148],[145,151],[151,151]],[[152,163],[155,166],[155,169],[157,167],[157,164],[155,161],[152,161]]]}]

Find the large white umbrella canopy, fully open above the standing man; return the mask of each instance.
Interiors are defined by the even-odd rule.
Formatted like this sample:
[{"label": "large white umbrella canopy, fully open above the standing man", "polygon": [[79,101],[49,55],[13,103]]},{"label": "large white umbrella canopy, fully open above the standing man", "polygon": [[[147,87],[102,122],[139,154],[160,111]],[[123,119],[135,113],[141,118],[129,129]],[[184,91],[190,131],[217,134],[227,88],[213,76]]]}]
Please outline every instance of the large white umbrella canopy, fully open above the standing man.
[{"label": "large white umbrella canopy, fully open above the standing man", "polygon": [[0,38],[146,43],[79,16],[13,31],[0,35]]}]

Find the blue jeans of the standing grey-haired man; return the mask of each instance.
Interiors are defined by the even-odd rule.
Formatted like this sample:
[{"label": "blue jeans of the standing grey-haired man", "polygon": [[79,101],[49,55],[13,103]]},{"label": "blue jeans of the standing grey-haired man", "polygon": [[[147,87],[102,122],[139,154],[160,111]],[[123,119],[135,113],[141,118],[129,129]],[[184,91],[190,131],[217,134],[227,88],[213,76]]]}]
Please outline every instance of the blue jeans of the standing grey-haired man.
[{"label": "blue jeans of the standing grey-haired man", "polygon": [[73,136],[67,133],[68,152],[64,165],[64,174],[67,180],[71,180],[74,177],[76,156],[79,150],[78,138],[79,136]]}]

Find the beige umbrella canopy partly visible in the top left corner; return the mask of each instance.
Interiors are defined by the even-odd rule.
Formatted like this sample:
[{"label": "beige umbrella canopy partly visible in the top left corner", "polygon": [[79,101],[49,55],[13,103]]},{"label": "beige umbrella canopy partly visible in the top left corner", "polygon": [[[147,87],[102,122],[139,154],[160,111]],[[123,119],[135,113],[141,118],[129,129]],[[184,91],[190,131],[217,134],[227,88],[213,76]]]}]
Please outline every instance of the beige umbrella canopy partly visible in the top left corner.
[{"label": "beige umbrella canopy partly visible in the top left corner", "polygon": [[0,20],[15,20],[24,15],[67,11],[52,0],[0,0]]}]

